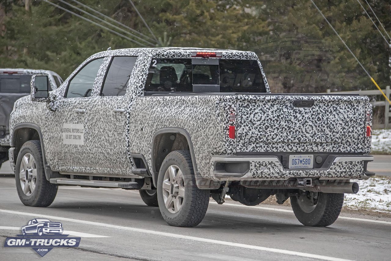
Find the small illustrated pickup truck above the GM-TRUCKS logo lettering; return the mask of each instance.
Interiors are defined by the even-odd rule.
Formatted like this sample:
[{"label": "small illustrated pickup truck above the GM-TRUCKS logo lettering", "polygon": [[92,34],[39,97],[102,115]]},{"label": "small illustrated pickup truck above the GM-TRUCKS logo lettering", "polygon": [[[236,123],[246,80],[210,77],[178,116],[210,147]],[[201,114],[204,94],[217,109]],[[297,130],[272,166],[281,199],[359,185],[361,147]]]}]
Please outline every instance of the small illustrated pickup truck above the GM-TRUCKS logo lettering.
[{"label": "small illustrated pickup truck above the GM-TRUCKS logo lettering", "polygon": [[30,220],[29,223],[22,227],[22,234],[38,234],[42,236],[43,234],[62,234],[64,231],[63,224],[59,222],[52,222],[48,219],[35,218]]}]

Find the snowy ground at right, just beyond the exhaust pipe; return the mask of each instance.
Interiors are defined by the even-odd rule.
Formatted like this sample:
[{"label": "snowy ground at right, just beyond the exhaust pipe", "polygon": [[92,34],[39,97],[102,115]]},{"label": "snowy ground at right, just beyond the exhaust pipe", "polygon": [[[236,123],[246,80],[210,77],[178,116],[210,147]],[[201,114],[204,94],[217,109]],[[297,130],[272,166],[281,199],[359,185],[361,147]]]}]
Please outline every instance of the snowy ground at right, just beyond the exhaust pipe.
[{"label": "snowy ground at right, just beyond the exhaust pipe", "polygon": [[375,176],[368,180],[352,180],[360,185],[357,194],[345,194],[344,207],[391,214],[391,177]]}]

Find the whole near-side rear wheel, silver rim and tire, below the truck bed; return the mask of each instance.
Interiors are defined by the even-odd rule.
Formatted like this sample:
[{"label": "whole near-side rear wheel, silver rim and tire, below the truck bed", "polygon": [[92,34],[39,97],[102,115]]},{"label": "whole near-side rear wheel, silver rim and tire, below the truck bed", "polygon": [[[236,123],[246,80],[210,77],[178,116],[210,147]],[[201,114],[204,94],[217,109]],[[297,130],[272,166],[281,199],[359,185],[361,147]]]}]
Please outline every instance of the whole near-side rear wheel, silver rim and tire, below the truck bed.
[{"label": "whole near-side rear wheel, silver rim and tire, below the truck bed", "polygon": [[195,184],[190,152],[170,152],[158,176],[158,202],[164,220],[175,227],[195,227],[205,216],[209,196],[210,190]]}]

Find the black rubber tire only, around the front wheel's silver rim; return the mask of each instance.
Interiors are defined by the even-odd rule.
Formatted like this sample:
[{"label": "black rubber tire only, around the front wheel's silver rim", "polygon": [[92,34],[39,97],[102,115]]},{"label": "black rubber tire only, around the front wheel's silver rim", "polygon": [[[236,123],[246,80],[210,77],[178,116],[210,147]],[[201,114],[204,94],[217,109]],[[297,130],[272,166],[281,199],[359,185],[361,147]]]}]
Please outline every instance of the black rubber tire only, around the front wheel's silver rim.
[{"label": "black rubber tire only, around the front wheel's silver rim", "polygon": [[[22,163],[22,158],[26,153],[32,155],[36,167],[35,188],[29,195],[26,195],[23,192],[20,182],[20,165]],[[20,201],[26,206],[47,207],[53,202],[54,198],[56,198],[58,185],[51,184],[46,179],[42,160],[41,142],[39,142],[39,140],[29,140],[25,142],[20,149],[18,158],[16,159],[15,181]]]}]

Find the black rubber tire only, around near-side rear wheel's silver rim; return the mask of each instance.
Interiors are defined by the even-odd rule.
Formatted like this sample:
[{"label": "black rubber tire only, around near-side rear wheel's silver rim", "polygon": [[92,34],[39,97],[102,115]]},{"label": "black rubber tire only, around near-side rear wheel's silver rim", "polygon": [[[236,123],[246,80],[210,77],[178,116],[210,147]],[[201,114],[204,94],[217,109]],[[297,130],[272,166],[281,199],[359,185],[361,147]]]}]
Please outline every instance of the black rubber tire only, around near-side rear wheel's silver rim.
[{"label": "black rubber tire only, around near-side rear wheel's silver rim", "polygon": [[[170,166],[178,166],[183,175],[184,197],[178,212],[170,212],[163,198],[163,181]],[[179,172],[179,171],[178,171]],[[195,227],[203,220],[208,209],[209,189],[195,184],[194,169],[189,151],[172,151],[165,157],[158,176],[158,202],[161,215],[171,226]]]}]

